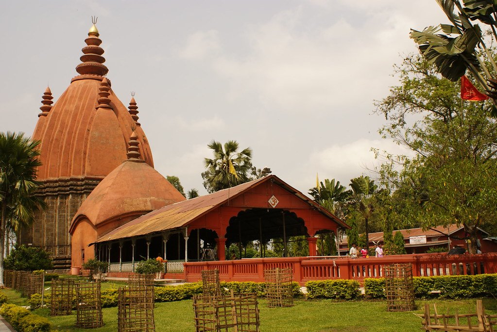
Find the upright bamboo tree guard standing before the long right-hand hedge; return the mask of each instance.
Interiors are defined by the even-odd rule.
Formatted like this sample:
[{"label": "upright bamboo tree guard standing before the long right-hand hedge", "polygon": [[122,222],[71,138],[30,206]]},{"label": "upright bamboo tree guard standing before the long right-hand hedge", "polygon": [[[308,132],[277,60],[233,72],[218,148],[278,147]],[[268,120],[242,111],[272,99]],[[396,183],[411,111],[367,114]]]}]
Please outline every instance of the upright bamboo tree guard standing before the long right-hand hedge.
[{"label": "upright bamboo tree guard standing before the long right-hand hedge", "polygon": [[385,270],[385,295],[388,311],[414,310],[413,266],[391,264]]}]

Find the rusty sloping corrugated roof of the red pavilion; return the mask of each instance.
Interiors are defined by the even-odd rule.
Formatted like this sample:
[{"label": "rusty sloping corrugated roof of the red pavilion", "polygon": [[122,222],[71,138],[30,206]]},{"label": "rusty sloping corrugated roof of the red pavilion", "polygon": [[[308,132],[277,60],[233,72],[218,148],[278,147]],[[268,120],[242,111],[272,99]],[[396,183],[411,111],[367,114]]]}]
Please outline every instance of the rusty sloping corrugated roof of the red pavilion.
[{"label": "rusty sloping corrugated roof of the red pavilion", "polygon": [[234,199],[254,186],[270,179],[272,179],[274,183],[282,186],[285,190],[291,192],[300,199],[305,200],[309,203],[309,205],[318,208],[322,214],[337,222],[340,226],[349,228],[345,222],[326,211],[326,209],[320,208],[317,203],[302,194],[300,191],[286,184],[276,175],[269,175],[240,184],[230,189],[219,190],[209,195],[167,205],[164,208],[152,211],[110,231],[109,233],[98,238],[95,243],[143,236],[151,233],[162,232],[167,229],[183,227],[195,219],[205,215],[209,211],[221,206],[225,202],[228,202],[228,198]]}]

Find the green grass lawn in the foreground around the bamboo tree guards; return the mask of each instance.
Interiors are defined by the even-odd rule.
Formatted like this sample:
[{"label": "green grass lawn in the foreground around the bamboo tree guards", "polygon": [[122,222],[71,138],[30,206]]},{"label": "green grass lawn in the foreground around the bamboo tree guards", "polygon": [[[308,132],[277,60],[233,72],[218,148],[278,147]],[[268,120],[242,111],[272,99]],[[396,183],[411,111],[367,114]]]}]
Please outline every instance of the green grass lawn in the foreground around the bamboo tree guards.
[{"label": "green grass lawn in the foreground around the bamboo tree guards", "polygon": [[[5,292],[5,290],[4,290]],[[6,292],[5,292],[6,293]],[[439,313],[470,313],[475,311],[474,299],[469,300],[430,300],[437,303]],[[425,302],[417,300],[421,313]],[[484,305],[489,314],[496,314],[497,300],[485,299]],[[344,301],[296,300],[291,308],[267,308],[264,299],[259,300],[260,331],[262,332],[397,332],[420,331],[421,319],[413,312],[387,312],[385,301]],[[48,309],[35,313],[47,316]],[[156,303],[154,310],[156,331],[192,332],[192,300]],[[88,331],[74,328],[76,315],[49,317],[54,329],[71,332]],[[105,326],[95,332],[117,331],[117,308],[103,309]]]}]

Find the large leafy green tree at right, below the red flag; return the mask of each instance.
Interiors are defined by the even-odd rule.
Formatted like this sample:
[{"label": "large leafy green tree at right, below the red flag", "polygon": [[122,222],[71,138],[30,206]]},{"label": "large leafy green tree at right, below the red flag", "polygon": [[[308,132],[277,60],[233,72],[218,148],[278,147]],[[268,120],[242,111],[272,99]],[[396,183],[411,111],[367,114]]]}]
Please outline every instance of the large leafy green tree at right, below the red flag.
[{"label": "large leafy green tree at right, below the red flag", "polygon": [[411,151],[411,156],[376,151],[384,160],[381,183],[393,192],[395,226],[456,223],[473,245],[477,227],[497,230],[492,104],[461,101],[459,84],[440,78],[435,66],[419,56],[406,57],[397,73],[399,86],[376,104],[387,119],[380,133]]}]

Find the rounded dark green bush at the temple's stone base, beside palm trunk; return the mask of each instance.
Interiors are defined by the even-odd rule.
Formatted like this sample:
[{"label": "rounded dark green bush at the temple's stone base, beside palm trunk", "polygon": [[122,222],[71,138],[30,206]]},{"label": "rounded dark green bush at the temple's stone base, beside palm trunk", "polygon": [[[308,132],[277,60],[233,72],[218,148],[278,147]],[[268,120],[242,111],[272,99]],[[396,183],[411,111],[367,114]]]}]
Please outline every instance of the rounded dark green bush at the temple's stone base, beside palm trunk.
[{"label": "rounded dark green bush at the temple's stone base, beside palm trunk", "polygon": [[50,254],[42,248],[16,246],[10,254],[5,257],[5,269],[16,271],[36,271],[53,269]]}]

